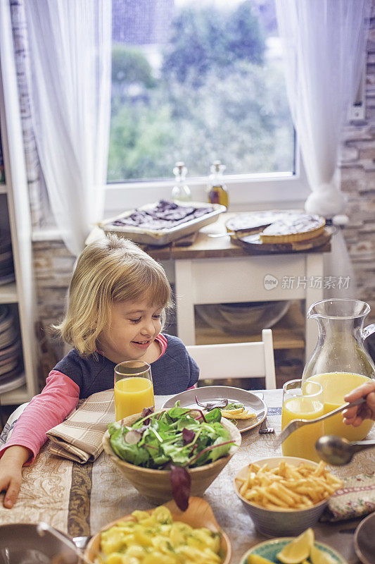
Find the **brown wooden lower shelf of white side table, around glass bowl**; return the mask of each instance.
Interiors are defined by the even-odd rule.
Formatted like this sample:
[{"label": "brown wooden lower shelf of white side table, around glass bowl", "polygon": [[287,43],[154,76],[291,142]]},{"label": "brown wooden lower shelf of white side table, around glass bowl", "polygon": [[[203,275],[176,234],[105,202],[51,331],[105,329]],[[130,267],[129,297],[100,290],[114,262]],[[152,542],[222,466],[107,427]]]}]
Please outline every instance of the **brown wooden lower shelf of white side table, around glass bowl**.
[{"label": "brown wooden lower shelf of white side table, around glass bowl", "polygon": [[[212,343],[246,343],[261,341],[262,332],[258,333],[224,333],[204,324],[196,317],[196,345]],[[274,350],[305,348],[305,319],[298,302],[292,303],[288,312],[272,327]]]}]

